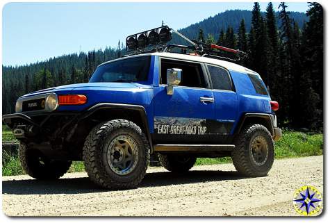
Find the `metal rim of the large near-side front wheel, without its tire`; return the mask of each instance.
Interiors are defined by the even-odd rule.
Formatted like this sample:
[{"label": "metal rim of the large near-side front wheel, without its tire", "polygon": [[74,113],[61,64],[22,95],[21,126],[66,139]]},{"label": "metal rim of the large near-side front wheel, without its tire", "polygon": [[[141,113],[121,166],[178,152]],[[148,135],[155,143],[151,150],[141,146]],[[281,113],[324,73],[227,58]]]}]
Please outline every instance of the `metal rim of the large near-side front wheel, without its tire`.
[{"label": "metal rim of the large near-side front wheel, without its tire", "polygon": [[138,163],[138,144],[129,135],[118,135],[108,147],[107,160],[116,174],[129,174]]}]

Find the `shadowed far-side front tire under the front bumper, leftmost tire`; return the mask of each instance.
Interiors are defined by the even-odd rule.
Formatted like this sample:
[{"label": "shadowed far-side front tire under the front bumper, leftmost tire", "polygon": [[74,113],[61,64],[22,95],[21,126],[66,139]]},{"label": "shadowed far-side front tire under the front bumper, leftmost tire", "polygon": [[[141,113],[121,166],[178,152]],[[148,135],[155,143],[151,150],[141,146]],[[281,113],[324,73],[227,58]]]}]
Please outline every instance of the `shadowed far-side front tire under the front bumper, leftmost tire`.
[{"label": "shadowed far-side front tire under the front bumper, leftmost tire", "polygon": [[40,179],[58,179],[63,176],[72,164],[69,160],[51,160],[37,149],[28,149],[25,144],[19,144],[19,162],[29,176]]}]

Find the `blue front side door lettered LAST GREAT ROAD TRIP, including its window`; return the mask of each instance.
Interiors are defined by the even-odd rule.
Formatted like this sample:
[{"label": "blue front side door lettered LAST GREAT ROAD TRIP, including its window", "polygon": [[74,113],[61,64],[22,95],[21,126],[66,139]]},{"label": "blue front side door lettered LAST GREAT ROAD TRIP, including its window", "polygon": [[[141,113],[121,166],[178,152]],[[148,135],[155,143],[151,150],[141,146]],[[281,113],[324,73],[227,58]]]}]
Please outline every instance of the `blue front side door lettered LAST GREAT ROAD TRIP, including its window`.
[{"label": "blue front side door lettered LAST GREAT ROAD TRIP, including its window", "polygon": [[[167,94],[167,69],[181,69],[181,83]],[[215,119],[213,91],[201,63],[160,58],[160,84],[154,88],[154,142],[209,142],[208,124]]]}]

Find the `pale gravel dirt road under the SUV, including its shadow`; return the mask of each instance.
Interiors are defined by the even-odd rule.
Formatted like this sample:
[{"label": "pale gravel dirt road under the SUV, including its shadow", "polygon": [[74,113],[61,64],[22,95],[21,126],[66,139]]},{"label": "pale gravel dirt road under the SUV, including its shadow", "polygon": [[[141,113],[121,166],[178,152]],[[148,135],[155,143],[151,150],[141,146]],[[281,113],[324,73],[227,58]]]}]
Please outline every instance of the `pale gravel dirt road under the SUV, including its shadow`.
[{"label": "pale gravel dirt road under the SUV, including its shadow", "polygon": [[269,175],[242,178],[232,164],[193,167],[175,175],[149,168],[139,188],[95,189],[85,173],[58,181],[3,177],[3,211],[10,216],[244,216],[298,215],[293,192],[313,185],[323,193],[323,156],[275,160]]}]

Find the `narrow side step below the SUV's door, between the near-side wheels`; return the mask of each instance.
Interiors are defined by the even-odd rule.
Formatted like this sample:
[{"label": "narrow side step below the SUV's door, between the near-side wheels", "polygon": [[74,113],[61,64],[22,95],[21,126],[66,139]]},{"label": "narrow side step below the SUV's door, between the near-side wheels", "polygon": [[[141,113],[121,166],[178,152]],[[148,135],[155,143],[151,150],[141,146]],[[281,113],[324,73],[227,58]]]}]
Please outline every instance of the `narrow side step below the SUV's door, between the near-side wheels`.
[{"label": "narrow side step below the SUV's door, between the near-side wheels", "polygon": [[154,151],[233,151],[234,144],[156,144]]}]

